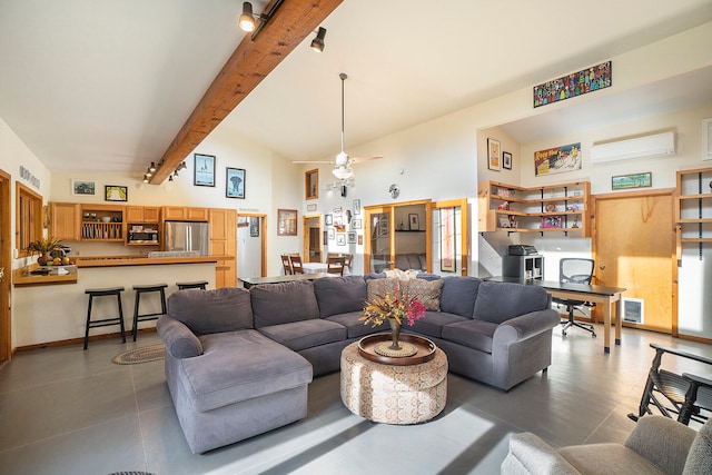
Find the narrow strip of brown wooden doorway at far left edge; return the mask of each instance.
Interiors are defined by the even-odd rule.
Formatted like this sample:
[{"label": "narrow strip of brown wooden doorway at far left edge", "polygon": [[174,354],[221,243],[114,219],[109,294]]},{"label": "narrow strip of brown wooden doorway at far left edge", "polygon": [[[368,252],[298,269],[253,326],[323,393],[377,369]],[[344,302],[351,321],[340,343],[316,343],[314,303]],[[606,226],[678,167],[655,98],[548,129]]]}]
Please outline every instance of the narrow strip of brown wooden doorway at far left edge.
[{"label": "narrow strip of brown wooden doorway at far left edge", "polygon": [[0,170],[0,363],[12,357],[10,175]]}]

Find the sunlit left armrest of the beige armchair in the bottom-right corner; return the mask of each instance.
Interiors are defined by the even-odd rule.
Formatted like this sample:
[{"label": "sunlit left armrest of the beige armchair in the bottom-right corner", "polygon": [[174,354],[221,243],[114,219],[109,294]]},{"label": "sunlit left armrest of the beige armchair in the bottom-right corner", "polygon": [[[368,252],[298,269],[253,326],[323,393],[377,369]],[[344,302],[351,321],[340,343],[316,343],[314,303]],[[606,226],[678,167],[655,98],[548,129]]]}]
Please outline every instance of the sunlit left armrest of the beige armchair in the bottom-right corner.
[{"label": "sunlit left armrest of the beige armchair in the bottom-right corner", "polygon": [[531,433],[514,434],[510,453],[502,463],[502,473],[511,474],[578,474],[546,442]]}]

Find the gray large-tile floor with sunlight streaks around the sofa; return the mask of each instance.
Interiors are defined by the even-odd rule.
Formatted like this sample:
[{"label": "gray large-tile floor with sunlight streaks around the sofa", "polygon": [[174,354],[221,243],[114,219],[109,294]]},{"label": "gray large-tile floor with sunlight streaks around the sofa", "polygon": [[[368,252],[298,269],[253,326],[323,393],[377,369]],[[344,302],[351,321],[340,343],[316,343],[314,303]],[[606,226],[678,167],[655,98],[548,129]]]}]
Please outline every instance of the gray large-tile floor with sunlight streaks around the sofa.
[{"label": "gray large-tile floor with sunlight streaks around the sofa", "polygon": [[[600,328],[599,334],[602,334]],[[512,433],[554,445],[623,442],[653,357],[650,343],[712,356],[712,346],[624,329],[603,354],[602,336],[553,330],[553,364],[510,393],[449,375],[447,406],[417,426],[374,424],[346,409],[339,377],[309,386],[308,416],[210,452],[190,453],[164,378],[162,362],[119,366],[137,344],[116,340],[21,352],[0,368],[0,472],[3,474],[496,474]],[[678,372],[710,375],[674,358]]]}]

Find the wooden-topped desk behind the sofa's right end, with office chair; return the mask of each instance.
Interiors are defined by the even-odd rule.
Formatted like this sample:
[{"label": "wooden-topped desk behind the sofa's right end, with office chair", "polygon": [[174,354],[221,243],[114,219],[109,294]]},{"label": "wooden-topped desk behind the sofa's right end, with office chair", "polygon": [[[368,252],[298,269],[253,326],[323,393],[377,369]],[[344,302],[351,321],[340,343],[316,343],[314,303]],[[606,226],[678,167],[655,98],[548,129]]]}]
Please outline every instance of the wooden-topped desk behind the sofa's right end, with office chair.
[{"label": "wooden-topped desk behind the sofa's right end, with office chair", "polygon": [[604,287],[585,284],[561,284],[555,280],[520,279],[517,277],[487,277],[484,280],[498,283],[515,283],[543,287],[552,297],[571,298],[574,300],[594,301],[603,307],[603,352],[611,353],[611,305],[615,304],[615,344],[621,344],[623,314],[621,311],[622,287]]}]

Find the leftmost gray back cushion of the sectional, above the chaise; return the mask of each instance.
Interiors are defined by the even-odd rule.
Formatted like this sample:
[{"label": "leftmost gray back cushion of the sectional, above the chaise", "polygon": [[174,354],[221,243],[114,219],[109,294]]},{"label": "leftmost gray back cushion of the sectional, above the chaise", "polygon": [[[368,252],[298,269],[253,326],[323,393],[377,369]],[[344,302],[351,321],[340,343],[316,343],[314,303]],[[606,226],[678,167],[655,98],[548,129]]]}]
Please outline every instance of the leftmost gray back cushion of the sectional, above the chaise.
[{"label": "leftmost gray back cushion of the sectional, above the chaise", "polygon": [[253,328],[250,294],[237,287],[176,291],[168,297],[168,315],[196,335]]}]

